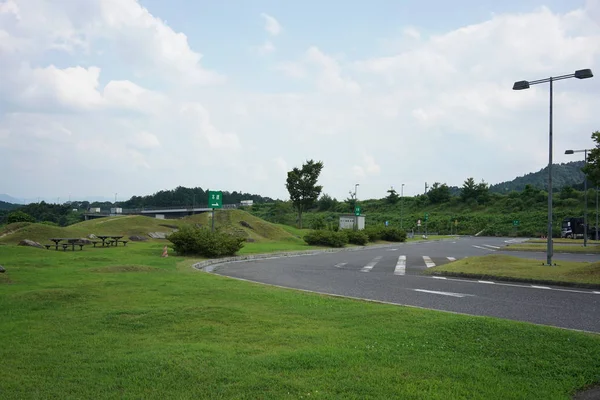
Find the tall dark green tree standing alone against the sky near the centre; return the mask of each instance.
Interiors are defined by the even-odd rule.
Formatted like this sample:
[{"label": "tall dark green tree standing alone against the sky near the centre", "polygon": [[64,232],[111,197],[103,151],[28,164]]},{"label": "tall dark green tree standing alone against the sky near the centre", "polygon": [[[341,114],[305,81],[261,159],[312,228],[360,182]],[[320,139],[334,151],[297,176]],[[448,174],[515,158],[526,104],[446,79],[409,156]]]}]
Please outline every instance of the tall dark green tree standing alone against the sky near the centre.
[{"label": "tall dark green tree standing alone against the sky near the centre", "polygon": [[323,162],[309,160],[302,168],[294,168],[288,172],[285,187],[287,188],[294,208],[298,212],[298,226],[302,228],[302,214],[310,209],[321,194],[323,186],[317,185],[323,170]]}]

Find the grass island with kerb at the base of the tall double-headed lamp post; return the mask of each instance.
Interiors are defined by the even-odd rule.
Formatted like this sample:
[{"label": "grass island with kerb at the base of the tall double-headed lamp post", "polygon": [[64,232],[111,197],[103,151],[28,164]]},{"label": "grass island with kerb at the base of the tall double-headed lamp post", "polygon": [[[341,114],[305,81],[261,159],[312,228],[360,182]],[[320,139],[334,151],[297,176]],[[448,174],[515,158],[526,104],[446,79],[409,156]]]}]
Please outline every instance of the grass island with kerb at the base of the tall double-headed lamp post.
[{"label": "grass island with kerb at the base of the tall double-headed lamp post", "polygon": [[600,262],[556,261],[556,264],[550,267],[539,260],[491,254],[440,265],[425,273],[600,285]]}]

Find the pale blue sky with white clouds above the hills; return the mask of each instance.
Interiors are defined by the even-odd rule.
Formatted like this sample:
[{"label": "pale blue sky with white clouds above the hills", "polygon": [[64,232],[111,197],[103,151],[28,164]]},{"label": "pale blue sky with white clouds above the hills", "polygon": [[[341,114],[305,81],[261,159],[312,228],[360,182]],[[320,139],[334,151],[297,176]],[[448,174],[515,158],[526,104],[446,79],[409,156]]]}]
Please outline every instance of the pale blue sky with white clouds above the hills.
[{"label": "pale blue sky with white clouds above the hills", "polygon": [[[497,183],[548,160],[548,92],[600,74],[600,0],[0,0],[0,192],[176,186],[287,198]],[[598,78],[557,83],[556,162],[593,146]]]}]

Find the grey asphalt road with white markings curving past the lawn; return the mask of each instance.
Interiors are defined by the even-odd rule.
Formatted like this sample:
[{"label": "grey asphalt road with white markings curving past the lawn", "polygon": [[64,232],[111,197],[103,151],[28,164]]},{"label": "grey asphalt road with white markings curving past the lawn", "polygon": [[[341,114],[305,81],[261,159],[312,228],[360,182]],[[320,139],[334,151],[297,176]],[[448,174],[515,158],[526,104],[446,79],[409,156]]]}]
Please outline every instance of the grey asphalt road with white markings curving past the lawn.
[{"label": "grey asphalt road with white markings curving past the lawn", "polygon": [[[225,276],[319,293],[600,333],[600,290],[421,276],[427,268],[501,252],[515,239],[462,237],[216,266]],[[518,241],[518,239],[517,239]],[[506,252],[546,260],[543,252]],[[554,260],[598,261],[591,254]],[[548,267],[551,268],[551,267]]]}]

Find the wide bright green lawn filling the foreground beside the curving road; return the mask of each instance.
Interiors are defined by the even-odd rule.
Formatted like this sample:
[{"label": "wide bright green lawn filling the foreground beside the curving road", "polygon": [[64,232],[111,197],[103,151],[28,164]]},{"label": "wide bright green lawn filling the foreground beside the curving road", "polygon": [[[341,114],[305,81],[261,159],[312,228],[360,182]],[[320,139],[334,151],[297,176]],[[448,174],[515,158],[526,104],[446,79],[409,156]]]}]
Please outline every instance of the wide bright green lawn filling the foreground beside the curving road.
[{"label": "wide bright green lawn filling the foreground beside the curving road", "polygon": [[0,246],[0,397],[568,399],[600,381],[600,335],[237,281],[162,246]]}]

